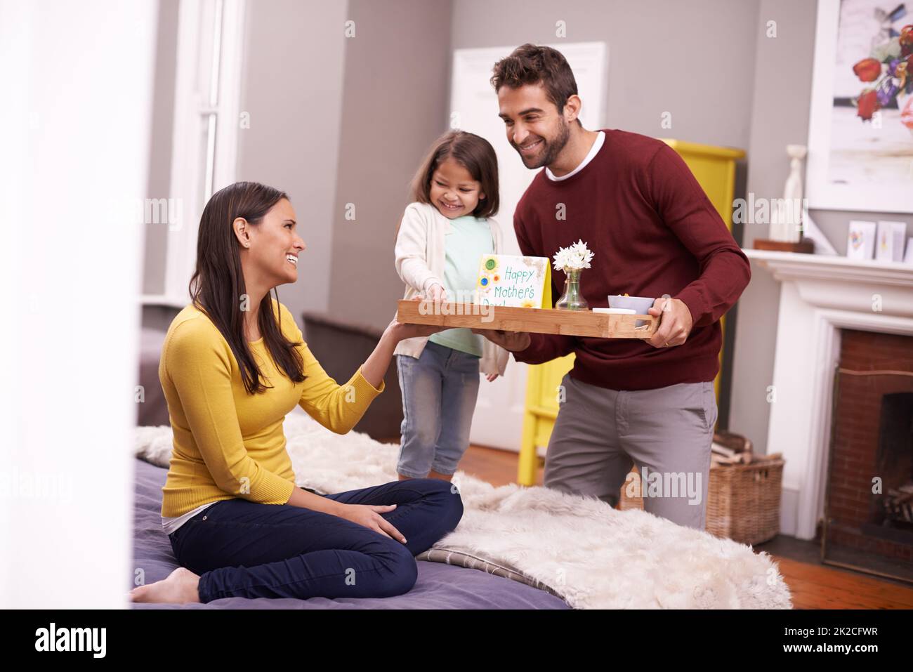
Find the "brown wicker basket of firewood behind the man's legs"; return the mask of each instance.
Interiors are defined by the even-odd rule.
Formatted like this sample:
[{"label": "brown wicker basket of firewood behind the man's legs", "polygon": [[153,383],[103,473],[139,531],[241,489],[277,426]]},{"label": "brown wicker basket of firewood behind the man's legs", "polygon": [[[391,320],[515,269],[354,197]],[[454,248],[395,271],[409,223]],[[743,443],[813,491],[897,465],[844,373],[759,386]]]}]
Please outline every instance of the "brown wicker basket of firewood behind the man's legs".
[{"label": "brown wicker basket of firewood behind the man's legs", "polygon": [[[707,494],[707,531],[740,543],[769,541],[780,531],[783,460],[755,457],[742,465],[712,465]],[[640,491],[640,475],[632,469],[632,490]],[[621,488],[618,509],[643,509],[644,499],[628,497]]]}]

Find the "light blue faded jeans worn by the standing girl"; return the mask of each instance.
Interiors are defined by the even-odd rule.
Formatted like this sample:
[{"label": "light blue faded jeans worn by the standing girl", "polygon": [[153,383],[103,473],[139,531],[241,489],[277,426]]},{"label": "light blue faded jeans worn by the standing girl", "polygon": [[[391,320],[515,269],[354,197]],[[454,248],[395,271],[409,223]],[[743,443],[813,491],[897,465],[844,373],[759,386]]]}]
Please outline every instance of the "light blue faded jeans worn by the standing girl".
[{"label": "light blue faded jeans worn by the standing girl", "polygon": [[417,359],[396,355],[403,392],[403,425],[396,471],[425,478],[431,469],[449,476],[469,447],[478,397],[479,358],[434,341]]}]

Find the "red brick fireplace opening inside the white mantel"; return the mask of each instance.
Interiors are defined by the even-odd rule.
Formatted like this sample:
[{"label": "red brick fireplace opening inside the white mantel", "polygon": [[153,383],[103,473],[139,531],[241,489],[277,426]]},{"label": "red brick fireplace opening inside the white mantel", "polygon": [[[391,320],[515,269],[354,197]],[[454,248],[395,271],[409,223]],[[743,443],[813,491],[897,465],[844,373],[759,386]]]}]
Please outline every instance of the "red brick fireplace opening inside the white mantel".
[{"label": "red brick fireplace opening inside the white mantel", "polygon": [[823,560],[913,582],[913,337],[841,330]]}]

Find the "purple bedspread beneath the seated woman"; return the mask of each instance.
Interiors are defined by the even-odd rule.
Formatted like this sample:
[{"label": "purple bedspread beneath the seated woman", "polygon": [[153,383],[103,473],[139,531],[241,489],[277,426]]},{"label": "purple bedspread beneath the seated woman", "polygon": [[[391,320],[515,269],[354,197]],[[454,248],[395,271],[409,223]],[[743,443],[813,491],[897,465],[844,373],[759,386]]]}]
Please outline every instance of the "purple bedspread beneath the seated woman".
[{"label": "purple bedspread beneath the seated woman", "polygon": [[[162,530],[162,487],[166,469],[136,460],[133,566],[146,583],[177,567]],[[132,576],[128,590],[133,587]],[[418,581],[404,595],[330,600],[226,597],[207,604],[132,604],[135,609],[568,609],[560,598],[524,583],[441,562],[418,561]]]}]

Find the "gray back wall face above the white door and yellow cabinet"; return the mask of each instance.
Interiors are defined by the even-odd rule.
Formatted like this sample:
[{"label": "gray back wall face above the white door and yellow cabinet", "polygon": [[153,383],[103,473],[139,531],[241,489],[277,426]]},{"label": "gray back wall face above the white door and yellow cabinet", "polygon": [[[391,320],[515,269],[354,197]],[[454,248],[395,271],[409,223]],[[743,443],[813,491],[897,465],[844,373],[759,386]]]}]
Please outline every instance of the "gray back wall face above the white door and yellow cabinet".
[{"label": "gray back wall face above the white door and yellow cabinet", "polygon": [[[757,12],[757,0],[455,0],[453,48],[602,40],[610,128],[746,148]],[[503,18],[479,20],[489,15]]]}]

